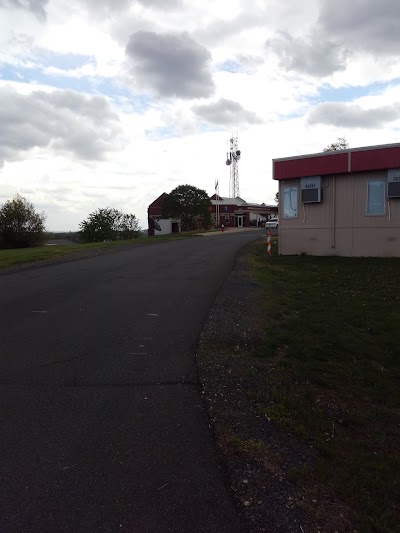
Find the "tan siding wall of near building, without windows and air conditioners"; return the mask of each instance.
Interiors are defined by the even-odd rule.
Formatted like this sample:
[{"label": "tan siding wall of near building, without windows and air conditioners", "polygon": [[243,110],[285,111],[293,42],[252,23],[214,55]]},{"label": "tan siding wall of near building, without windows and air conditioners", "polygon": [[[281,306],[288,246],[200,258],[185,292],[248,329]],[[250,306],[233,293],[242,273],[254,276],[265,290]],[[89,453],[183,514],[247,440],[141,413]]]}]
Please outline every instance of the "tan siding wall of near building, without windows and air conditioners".
[{"label": "tan siding wall of near building, without windows and air conditioners", "polygon": [[[279,253],[400,257],[400,199],[386,199],[383,215],[367,214],[367,184],[386,170],[322,177],[323,201],[302,204],[300,179],[282,180]],[[283,217],[283,189],[297,187],[297,217]]]}]

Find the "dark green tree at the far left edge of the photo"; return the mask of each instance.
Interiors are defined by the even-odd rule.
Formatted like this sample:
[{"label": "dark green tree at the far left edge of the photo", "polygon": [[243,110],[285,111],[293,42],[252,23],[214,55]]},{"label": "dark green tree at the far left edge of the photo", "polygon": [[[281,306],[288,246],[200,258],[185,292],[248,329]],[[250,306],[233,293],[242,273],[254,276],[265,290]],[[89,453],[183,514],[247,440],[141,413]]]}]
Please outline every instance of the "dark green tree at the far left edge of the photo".
[{"label": "dark green tree at the far left edge of the photo", "polygon": [[46,240],[46,215],[36,213],[33,204],[17,195],[0,207],[0,246],[28,248]]}]

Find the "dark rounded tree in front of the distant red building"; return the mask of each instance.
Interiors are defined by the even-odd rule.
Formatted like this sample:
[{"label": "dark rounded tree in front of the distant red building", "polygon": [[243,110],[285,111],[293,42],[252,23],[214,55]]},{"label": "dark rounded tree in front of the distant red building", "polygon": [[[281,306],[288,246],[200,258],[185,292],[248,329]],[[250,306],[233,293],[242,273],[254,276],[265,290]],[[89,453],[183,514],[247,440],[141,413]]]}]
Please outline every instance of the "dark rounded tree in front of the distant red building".
[{"label": "dark rounded tree in front of the distant red building", "polygon": [[209,228],[211,208],[211,200],[206,191],[193,185],[179,185],[166,196],[162,217],[180,219],[184,231],[199,226]]}]

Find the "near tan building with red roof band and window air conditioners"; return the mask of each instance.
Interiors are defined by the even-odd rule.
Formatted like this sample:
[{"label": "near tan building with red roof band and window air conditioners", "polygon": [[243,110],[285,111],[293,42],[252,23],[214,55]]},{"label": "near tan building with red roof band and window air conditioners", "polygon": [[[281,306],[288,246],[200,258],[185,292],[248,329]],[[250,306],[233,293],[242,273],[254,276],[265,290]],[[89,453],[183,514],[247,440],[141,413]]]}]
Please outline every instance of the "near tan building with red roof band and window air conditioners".
[{"label": "near tan building with red roof band and window air conditioners", "polygon": [[279,253],[400,257],[400,144],[273,160]]}]

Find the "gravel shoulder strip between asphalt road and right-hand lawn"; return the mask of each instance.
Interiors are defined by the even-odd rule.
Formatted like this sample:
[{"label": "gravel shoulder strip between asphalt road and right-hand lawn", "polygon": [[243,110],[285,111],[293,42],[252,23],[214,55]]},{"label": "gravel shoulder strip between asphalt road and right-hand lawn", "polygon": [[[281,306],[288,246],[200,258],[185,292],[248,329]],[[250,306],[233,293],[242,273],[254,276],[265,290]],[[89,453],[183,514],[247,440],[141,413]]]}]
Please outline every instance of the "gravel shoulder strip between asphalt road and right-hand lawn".
[{"label": "gravel shoulder strip between asphalt road and right-hand lawn", "polygon": [[[211,426],[228,483],[249,531],[354,531],[335,497],[304,486],[315,454],[276,427],[257,405],[276,361],[257,357],[265,345],[261,287],[245,247],[218,293],[198,346],[197,362]],[[264,320],[264,322],[263,322]],[[264,324],[265,325],[265,324]]]}]

